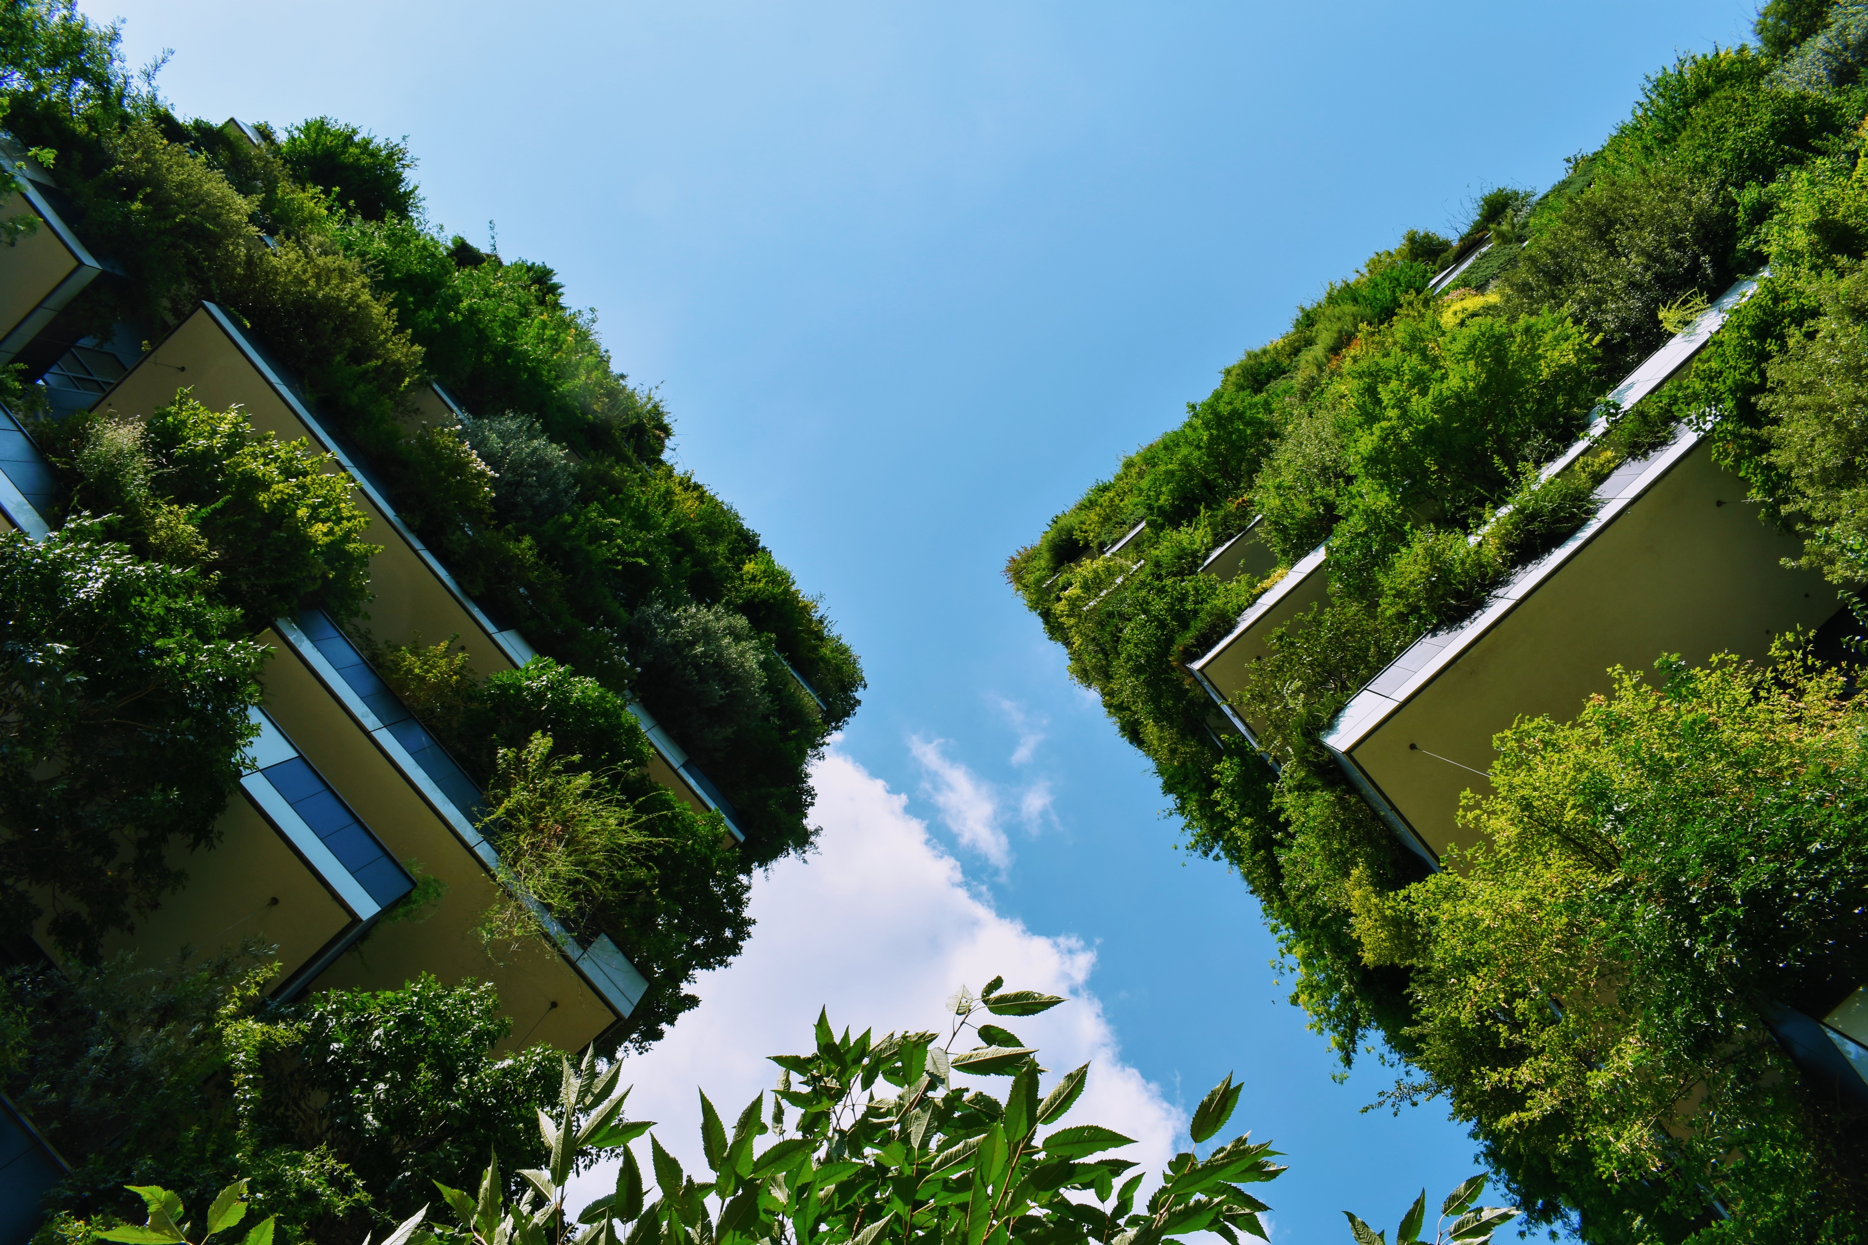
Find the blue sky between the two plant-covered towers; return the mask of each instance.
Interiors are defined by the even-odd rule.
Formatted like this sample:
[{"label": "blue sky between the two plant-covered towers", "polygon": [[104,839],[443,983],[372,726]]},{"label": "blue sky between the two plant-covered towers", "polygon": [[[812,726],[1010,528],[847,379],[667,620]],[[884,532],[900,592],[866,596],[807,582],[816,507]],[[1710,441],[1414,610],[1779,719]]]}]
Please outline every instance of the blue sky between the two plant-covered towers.
[{"label": "blue sky between the two plant-covered towers", "polygon": [[[493,222],[598,310],[680,461],[865,659],[826,851],[893,818],[895,860],[945,887],[915,911],[1076,984],[1102,1028],[1067,1045],[1119,1051],[1168,1114],[1111,1111],[1171,1129],[1237,1071],[1238,1124],[1293,1163],[1278,1239],[1347,1239],[1341,1208],[1392,1223],[1474,1170],[1440,1111],[1358,1112],[1392,1077],[1375,1060],[1332,1081],[1252,898],[1173,851],[1143,758],[999,567],[1298,301],[1493,185],[1549,185],[1642,75],[1741,39],[1752,6],[84,7],[127,19],[133,62],[176,49],[159,84],[183,112],[407,134],[433,220],[480,245]],[[842,937],[781,900],[755,933],[779,974],[779,948]],[[887,984],[805,959],[792,993],[854,1021],[960,963]],[[736,971],[674,1040],[732,1028]],[[773,1027],[781,1049],[796,1028]]]}]

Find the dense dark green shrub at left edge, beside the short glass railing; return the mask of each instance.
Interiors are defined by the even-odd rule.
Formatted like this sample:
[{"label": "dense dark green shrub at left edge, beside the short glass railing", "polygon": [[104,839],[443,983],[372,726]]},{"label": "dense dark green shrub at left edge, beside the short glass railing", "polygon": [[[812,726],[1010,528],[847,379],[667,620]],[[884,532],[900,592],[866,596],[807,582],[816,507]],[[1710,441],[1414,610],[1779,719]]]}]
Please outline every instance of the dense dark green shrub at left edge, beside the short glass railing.
[{"label": "dense dark green shrub at left edge, beside the short glass railing", "polygon": [[200,571],[97,536],[0,538],[0,894],[13,930],[49,902],[78,959],[185,881],[172,846],[213,842],[267,651]]}]

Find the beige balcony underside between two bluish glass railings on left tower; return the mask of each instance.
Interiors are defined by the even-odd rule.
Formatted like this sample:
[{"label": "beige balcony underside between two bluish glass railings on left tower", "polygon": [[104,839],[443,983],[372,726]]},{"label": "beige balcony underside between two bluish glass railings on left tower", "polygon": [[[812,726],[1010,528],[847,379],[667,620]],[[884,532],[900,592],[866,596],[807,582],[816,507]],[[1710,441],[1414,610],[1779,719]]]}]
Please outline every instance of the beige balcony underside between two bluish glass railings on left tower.
[{"label": "beige balcony underside between two bluish glass railings on left tower", "polygon": [[448,984],[489,980],[516,1038],[529,1032],[529,1042],[575,1051],[609,1028],[616,1015],[557,950],[532,943],[512,954],[501,950],[499,959],[488,952],[474,926],[499,898],[499,883],[312,668],[271,631],[262,640],[276,651],[262,674],[273,720],[390,855],[403,864],[420,860],[428,875],[446,885],[426,918],[377,926],[312,987],[394,989],[418,972]]}]

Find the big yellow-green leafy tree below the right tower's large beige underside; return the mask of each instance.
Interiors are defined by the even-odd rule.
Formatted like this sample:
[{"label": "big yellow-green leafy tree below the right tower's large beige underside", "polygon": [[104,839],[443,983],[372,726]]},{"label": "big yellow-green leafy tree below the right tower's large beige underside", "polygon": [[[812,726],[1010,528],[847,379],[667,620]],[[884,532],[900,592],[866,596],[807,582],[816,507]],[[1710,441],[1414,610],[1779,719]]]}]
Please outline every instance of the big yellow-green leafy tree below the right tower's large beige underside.
[{"label": "big yellow-green leafy tree below the right tower's large beige underside", "polygon": [[[1862,1196],[1862,1140],[1812,1114],[1821,1090],[1767,1038],[1762,1000],[1821,1015],[1868,971],[1868,707],[1842,672],[1778,657],[1775,674],[1616,672],[1575,722],[1519,722],[1496,795],[1463,814],[1485,846],[1366,894],[1356,931],[1412,967],[1425,1081],[1405,1094],[1661,1185],[1676,1221],[1711,1189],[1743,1208],[1717,1239],[1851,1239],[1836,1224]],[[1728,1163],[1734,1146],[1765,1161]]]}]

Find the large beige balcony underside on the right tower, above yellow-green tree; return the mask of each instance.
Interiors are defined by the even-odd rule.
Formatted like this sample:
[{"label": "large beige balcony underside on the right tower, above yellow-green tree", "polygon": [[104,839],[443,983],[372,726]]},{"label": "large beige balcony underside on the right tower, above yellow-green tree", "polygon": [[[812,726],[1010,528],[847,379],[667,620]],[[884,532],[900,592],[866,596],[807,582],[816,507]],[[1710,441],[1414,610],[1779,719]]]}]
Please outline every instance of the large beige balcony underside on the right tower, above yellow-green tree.
[{"label": "large beige balcony underside on the right tower, above yellow-green tree", "polygon": [[1780,566],[1799,543],[1743,497],[1702,442],[1351,750],[1435,853],[1459,838],[1461,791],[1493,790],[1459,765],[1485,771],[1517,717],[1571,719],[1610,666],[1651,670],[1661,653],[1762,659],[1836,610],[1819,575]]}]

